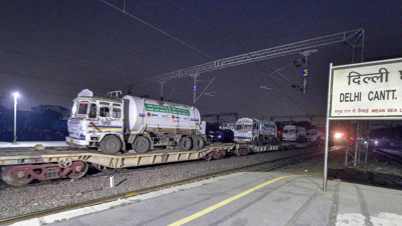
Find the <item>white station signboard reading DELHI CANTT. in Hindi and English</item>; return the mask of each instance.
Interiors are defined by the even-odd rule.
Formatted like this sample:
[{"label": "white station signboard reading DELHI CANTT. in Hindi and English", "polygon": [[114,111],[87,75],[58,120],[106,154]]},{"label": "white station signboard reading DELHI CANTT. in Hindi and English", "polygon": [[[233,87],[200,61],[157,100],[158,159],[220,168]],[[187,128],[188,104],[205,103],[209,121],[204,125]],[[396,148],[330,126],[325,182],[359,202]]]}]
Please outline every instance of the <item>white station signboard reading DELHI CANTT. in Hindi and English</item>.
[{"label": "white station signboard reading DELHI CANTT. in Hindi and English", "polygon": [[402,58],[330,70],[329,119],[402,119]]}]

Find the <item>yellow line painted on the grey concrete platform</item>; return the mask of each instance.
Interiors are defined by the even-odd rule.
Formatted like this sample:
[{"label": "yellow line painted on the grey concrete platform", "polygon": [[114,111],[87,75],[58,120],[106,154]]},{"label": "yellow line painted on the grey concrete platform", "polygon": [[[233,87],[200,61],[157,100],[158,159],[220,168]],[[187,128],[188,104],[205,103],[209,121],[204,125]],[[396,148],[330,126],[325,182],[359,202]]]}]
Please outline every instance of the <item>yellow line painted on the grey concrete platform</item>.
[{"label": "yellow line painted on the grey concrete platform", "polygon": [[250,193],[252,191],[255,191],[255,190],[260,189],[260,188],[262,188],[262,187],[264,187],[266,185],[274,183],[275,181],[279,181],[280,179],[284,179],[284,178],[287,178],[287,177],[299,177],[299,176],[306,176],[306,175],[290,175],[290,176],[283,176],[283,177],[275,178],[275,179],[273,179],[271,181],[267,181],[265,183],[262,183],[260,185],[255,186],[255,187],[252,187],[252,188],[248,189],[247,191],[243,191],[242,193],[240,193],[238,195],[235,195],[233,197],[225,199],[224,201],[221,201],[221,202],[219,202],[219,203],[217,203],[217,204],[215,204],[213,206],[210,206],[210,207],[208,207],[208,208],[206,208],[204,210],[201,210],[200,212],[197,212],[197,213],[195,213],[195,214],[193,214],[191,216],[188,216],[187,218],[183,218],[181,220],[173,222],[172,224],[169,224],[168,226],[180,226],[180,225],[185,224],[185,223],[187,223],[187,222],[189,222],[191,220],[194,220],[195,218],[203,216],[204,214],[207,214],[207,213],[211,212],[212,210],[216,210],[217,208],[219,208],[219,207],[221,207],[223,205],[226,205],[226,204],[230,203],[231,201],[234,201],[234,200],[236,200],[236,199],[238,199],[240,197],[243,197],[244,195],[247,195],[248,193]]}]

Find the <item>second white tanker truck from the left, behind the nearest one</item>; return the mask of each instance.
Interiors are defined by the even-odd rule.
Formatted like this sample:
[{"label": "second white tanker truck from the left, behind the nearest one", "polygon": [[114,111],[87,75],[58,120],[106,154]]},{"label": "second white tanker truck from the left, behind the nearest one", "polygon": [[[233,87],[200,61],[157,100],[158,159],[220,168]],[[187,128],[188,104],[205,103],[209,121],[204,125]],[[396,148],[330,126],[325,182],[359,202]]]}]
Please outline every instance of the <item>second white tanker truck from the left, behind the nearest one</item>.
[{"label": "second white tanker truck from the left, behind the nearest one", "polygon": [[273,121],[242,118],[234,125],[234,142],[263,146],[279,144],[277,125]]}]

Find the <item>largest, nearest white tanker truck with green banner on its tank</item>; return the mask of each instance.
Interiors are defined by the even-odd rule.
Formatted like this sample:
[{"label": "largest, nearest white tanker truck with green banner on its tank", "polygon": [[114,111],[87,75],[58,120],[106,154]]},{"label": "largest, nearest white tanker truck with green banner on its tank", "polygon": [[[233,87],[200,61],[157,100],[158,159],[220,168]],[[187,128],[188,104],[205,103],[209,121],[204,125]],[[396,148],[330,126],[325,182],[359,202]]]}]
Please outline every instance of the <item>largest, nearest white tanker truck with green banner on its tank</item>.
[{"label": "largest, nearest white tanker truck with green banner on its tank", "polygon": [[117,154],[131,148],[145,153],[155,147],[201,149],[206,141],[205,121],[197,108],[178,103],[125,95],[121,91],[96,95],[82,90],[68,119],[66,142]]}]

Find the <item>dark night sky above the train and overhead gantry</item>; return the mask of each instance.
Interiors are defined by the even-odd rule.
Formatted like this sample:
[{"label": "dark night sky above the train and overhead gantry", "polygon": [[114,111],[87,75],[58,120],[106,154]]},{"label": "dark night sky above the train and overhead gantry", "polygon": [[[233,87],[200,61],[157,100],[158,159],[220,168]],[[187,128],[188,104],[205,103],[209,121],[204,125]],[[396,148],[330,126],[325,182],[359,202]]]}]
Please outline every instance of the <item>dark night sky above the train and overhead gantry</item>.
[{"label": "dark night sky above the train and overhead gantry", "polygon": [[[124,0],[105,2],[123,10]],[[40,104],[71,108],[84,88],[125,93],[126,85],[146,78],[360,28],[364,59],[402,54],[401,1],[126,0],[125,12],[198,51],[105,2],[1,1],[0,105],[12,108],[12,93],[19,92],[20,110]],[[265,119],[325,114],[329,64],[350,64],[352,50],[340,45],[310,55],[306,95],[281,75],[273,74],[283,81],[266,75],[300,58],[293,54],[203,73],[199,80],[216,77],[206,91],[215,97],[203,95],[195,106],[201,115],[238,112]],[[280,72],[302,86],[301,68]],[[191,77],[170,80],[164,99],[171,95],[176,103],[194,105],[192,84]],[[198,94],[207,84],[198,82]],[[160,99],[158,83],[131,92]]]}]

